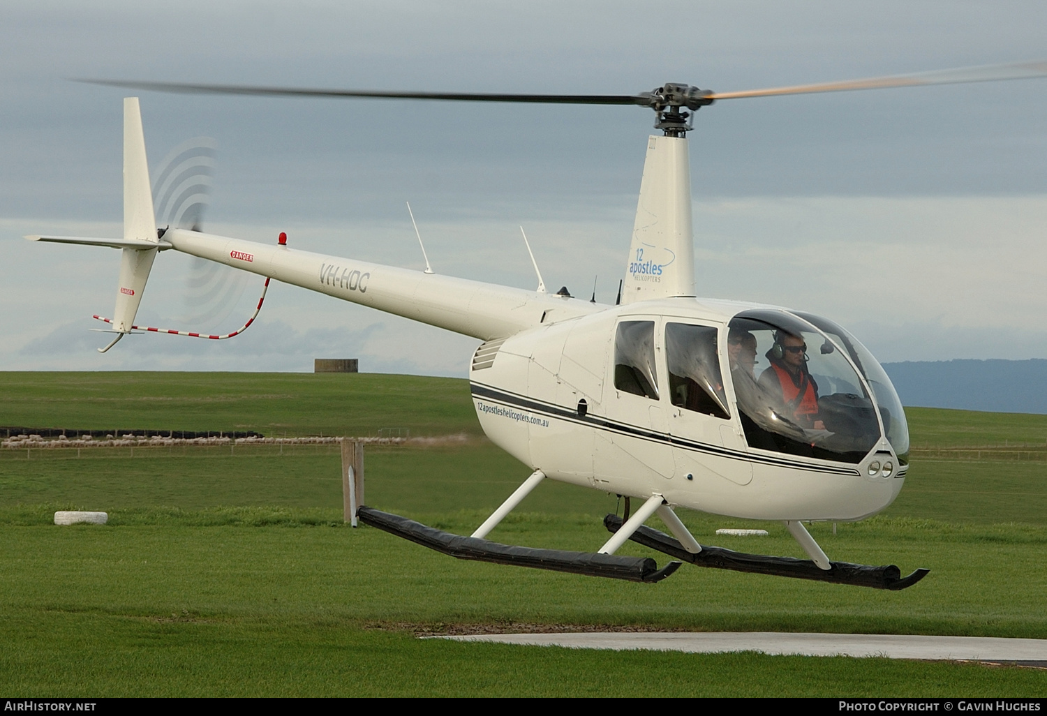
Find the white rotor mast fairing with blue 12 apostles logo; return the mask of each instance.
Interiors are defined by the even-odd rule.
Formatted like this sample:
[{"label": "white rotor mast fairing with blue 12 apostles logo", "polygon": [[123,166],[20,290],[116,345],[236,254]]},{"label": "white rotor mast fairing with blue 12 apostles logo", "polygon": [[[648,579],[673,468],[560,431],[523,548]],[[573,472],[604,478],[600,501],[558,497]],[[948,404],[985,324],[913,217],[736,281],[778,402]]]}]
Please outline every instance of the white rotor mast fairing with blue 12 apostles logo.
[{"label": "white rotor mast fairing with blue 12 apostles logo", "polygon": [[687,139],[652,136],[632,228],[622,303],[694,295]]}]

